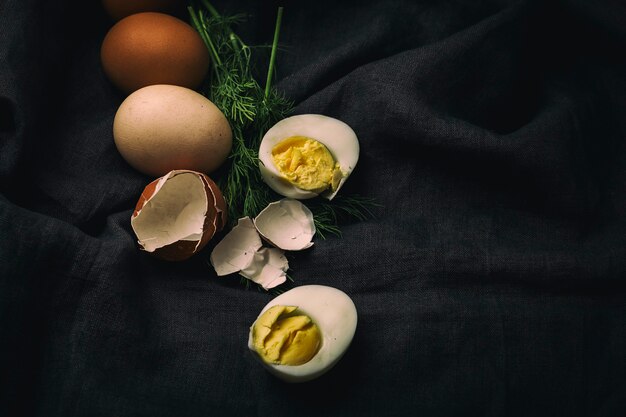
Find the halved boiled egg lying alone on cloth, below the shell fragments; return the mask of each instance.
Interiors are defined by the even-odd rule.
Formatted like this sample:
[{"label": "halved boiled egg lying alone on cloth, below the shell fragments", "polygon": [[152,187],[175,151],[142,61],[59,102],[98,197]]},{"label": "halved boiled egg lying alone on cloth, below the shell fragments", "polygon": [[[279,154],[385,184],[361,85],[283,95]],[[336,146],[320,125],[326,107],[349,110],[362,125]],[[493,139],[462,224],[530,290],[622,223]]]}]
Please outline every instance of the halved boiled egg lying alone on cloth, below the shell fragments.
[{"label": "halved boiled egg lying alone on cloth, below the shell fragments", "polygon": [[324,285],[293,288],[270,301],[250,326],[248,348],[287,382],[328,372],[348,349],[357,311],[343,291]]}]

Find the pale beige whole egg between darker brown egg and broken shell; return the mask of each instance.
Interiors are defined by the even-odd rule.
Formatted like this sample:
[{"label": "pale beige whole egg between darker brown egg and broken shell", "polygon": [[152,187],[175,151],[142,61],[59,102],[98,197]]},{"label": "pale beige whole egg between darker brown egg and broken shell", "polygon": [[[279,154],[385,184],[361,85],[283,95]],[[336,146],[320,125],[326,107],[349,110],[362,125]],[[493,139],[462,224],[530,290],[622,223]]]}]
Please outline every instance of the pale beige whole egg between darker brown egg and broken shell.
[{"label": "pale beige whole egg between darker brown egg and broken shell", "polygon": [[176,169],[209,174],[228,157],[232,131],[209,99],[175,85],[130,94],[113,121],[115,145],[135,169],[162,176]]}]

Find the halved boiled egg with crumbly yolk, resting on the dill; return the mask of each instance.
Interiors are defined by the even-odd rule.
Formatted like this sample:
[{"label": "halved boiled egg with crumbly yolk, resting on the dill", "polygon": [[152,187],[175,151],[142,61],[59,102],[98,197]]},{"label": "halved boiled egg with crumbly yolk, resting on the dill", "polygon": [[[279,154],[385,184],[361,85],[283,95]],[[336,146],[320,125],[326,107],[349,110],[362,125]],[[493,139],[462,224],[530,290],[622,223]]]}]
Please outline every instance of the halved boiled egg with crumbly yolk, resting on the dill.
[{"label": "halved boiled egg with crumbly yolk, resting on the dill", "polygon": [[356,133],[341,120],[321,114],[287,117],[261,140],[261,176],[285,197],[331,200],[354,170],[359,151]]}]

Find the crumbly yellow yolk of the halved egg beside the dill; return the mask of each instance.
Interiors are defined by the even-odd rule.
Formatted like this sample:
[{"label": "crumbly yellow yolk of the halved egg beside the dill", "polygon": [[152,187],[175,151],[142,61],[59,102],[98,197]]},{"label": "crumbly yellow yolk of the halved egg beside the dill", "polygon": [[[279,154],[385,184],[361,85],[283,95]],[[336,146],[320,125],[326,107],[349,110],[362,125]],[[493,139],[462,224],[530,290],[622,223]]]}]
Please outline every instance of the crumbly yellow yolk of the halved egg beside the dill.
[{"label": "crumbly yellow yolk of the halved egg beside the dill", "polygon": [[337,189],[339,164],[321,142],[305,136],[291,136],[272,148],[278,171],[296,187],[313,192]]}]

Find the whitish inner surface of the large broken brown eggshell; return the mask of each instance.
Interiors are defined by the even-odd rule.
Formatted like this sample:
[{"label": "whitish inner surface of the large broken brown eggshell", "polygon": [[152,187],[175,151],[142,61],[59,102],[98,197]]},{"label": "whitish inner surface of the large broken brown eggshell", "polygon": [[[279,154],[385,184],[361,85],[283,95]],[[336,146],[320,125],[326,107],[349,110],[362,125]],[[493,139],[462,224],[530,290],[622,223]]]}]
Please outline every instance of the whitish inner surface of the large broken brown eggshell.
[{"label": "whitish inner surface of the large broken brown eggshell", "polygon": [[131,223],[147,252],[180,240],[199,242],[207,206],[204,183],[198,175],[168,175],[159,180],[154,194]]}]

